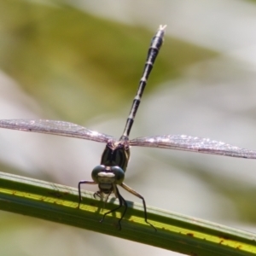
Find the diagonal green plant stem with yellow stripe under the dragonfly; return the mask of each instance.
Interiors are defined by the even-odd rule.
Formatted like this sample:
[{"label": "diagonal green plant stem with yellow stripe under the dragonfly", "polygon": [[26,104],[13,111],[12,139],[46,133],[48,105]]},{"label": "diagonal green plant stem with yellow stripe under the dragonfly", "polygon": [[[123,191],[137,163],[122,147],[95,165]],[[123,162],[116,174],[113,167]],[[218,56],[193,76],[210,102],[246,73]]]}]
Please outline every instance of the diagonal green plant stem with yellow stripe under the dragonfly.
[{"label": "diagonal green plant stem with yellow stripe under the dragonfly", "polygon": [[128,202],[122,230],[118,230],[123,207],[100,223],[104,212],[116,207],[116,203],[106,203],[102,210],[102,201],[96,200],[92,192],[84,191],[79,209],[78,199],[78,189],[0,172],[0,209],[4,211],[189,255],[256,255],[256,236],[252,233],[147,207],[148,222],[157,229],[154,231],[144,221],[143,206],[133,202]]}]

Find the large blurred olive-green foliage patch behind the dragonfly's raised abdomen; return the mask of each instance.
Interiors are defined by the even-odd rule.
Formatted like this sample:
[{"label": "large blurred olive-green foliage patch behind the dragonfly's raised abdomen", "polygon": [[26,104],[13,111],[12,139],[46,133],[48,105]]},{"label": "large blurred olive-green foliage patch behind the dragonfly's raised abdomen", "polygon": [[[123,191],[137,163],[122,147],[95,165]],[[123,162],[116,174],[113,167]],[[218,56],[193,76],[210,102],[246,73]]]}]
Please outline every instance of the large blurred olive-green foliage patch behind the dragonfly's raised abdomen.
[{"label": "large blurred olive-green foliage patch behind the dragonfly's raised abdomen", "polygon": [[[19,0],[0,1],[0,24],[1,69],[54,118],[76,123],[131,102],[154,35],[69,6]],[[214,55],[166,37],[147,91]]]}]

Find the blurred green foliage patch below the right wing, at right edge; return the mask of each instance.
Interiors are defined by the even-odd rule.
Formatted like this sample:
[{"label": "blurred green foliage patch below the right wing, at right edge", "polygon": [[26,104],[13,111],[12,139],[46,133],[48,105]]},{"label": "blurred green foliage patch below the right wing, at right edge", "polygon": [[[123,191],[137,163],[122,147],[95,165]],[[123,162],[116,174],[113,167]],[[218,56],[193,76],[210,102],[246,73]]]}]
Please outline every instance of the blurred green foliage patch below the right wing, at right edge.
[{"label": "blurred green foliage patch below the right wing, at right edge", "polygon": [[[152,155],[152,158],[154,157],[155,154]],[[206,184],[207,189],[212,190],[212,195],[216,195],[216,197],[224,199],[224,201],[230,201],[232,207],[234,207],[233,210],[236,213],[236,218],[241,221],[241,223],[248,225],[254,225],[256,223],[255,206],[253,204],[256,194],[255,184],[246,183],[237,178],[236,175],[228,176],[226,173],[216,175],[215,166],[212,165],[209,165],[206,170],[205,167],[195,161],[189,161],[188,159],[184,161],[174,160],[164,154],[157,154],[156,158],[161,162],[169,162],[173,169],[196,177],[201,183]],[[243,172],[243,170],[241,170],[241,172]],[[195,201],[195,204],[197,205],[198,201]],[[223,208],[222,200],[215,201],[214,204],[219,208]],[[230,217],[229,213],[229,211],[218,212],[224,221],[230,221],[234,218],[233,216]]]}]

